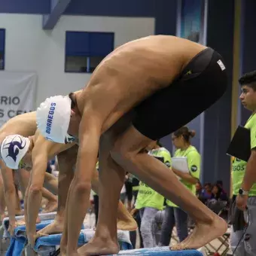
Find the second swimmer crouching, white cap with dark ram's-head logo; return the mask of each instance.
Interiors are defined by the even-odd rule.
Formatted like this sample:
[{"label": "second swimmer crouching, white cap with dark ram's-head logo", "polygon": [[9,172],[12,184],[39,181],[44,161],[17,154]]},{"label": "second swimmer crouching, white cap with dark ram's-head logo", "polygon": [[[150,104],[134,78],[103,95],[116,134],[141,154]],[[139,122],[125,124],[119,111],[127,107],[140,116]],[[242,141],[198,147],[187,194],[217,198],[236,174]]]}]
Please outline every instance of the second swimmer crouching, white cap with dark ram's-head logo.
[{"label": "second swimmer crouching, white cap with dark ram's-head logo", "polygon": [[[32,166],[31,179],[26,191],[26,205],[27,205],[27,236],[29,242],[34,245],[35,239],[39,236],[44,236],[50,233],[62,233],[64,226],[64,212],[66,206],[66,197],[71,184],[72,178],[74,177],[73,167],[75,166],[76,157],[78,154],[78,145],[75,142],[59,144],[50,142],[44,139],[43,136],[37,131],[35,136],[25,138],[19,136],[23,141],[26,141],[28,147],[26,151],[20,151],[21,155],[18,155],[20,159],[20,166],[26,168]],[[66,142],[72,141],[71,137],[68,136]],[[12,142],[15,144],[16,136],[7,136],[5,142]],[[10,164],[8,158],[9,148],[2,148],[2,156],[5,163]],[[55,155],[58,157],[59,163],[59,187],[57,184],[50,184],[50,190],[54,194],[58,194],[58,209],[56,218],[44,229],[39,230],[38,233],[35,231],[35,218],[38,215],[41,202],[41,189],[44,182],[47,180],[48,175],[47,160],[50,160]],[[46,176],[45,176],[46,175]],[[98,172],[95,170],[92,179],[92,188],[98,193]],[[49,182],[48,182],[49,186]],[[127,212],[126,208],[120,202],[118,207],[118,222],[117,228],[120,230],[136,230],[137,225],[133,217]],[[64,236],[65,237],[65,236]]]}]

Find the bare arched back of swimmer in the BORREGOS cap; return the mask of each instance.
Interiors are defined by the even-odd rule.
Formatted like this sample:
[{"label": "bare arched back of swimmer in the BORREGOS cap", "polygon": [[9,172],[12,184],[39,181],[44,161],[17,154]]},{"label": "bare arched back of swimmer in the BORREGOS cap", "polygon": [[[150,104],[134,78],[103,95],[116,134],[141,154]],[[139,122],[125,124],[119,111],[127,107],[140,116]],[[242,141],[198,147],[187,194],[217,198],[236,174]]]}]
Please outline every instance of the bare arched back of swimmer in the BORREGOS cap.
[{"label": "bare arched back of swimmer in the BORREGOS cap", "polygon": [[168,87],[181,74],[201,44],[169,35],[131,41],[105,57],[89,84],[76,96],[78,109],[97,113],[105,133],[138,102]]}]

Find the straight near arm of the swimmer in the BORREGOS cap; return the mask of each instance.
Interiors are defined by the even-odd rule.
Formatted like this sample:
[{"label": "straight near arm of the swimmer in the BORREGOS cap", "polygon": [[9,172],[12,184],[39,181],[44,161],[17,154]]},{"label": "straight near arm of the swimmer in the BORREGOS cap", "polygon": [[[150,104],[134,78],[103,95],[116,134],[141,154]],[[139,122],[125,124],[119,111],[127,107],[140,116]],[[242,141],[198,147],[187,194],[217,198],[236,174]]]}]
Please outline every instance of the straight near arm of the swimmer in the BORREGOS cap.
[{"label": "straight near arm of the swimmer in the BORREGOS cap", "polygon": [[83,114],[79,127],[80,145],[77,169],[75,170],[72,188],[69,191],[69,201],[66,204],[69,220],[65,225],[69,227],[68,236],[72,246],[78,244],[81,224],[84,221],[84,215],[89,205],[91,179],[96,166],[101,127],[101,122],[97,120],[95,114]]}]

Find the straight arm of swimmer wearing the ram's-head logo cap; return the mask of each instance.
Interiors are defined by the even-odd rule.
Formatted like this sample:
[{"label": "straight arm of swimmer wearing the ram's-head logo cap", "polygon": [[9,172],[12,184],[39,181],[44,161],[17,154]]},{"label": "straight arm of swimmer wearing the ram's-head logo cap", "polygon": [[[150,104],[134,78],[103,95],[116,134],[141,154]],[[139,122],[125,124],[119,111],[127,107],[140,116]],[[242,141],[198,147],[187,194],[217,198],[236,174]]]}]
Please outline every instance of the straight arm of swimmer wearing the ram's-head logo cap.
[{"label": "straight arm of swimmer wearing the ram's-head logo cap", "polygon": [[29,233],[35,234],[36,218],[41,206],[42,188],[44,175],[47,169],[47,149],[35,145],[32,150],[32,172],[30,176],[31,184],[28,190],[28,223]]}]

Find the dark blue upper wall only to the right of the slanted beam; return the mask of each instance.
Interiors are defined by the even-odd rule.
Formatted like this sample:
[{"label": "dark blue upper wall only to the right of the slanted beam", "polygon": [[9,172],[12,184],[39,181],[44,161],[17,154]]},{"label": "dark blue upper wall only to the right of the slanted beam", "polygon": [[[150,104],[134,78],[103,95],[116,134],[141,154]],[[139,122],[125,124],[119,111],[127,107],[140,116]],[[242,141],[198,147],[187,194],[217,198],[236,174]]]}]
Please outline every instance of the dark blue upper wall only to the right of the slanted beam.
[{"label": "dark blue upper wall only to the right of the slanted beam", "polygon": [[155,33],[175,35],[177,0],[72,0],[64,14],[111,17],[155,17]]}]

